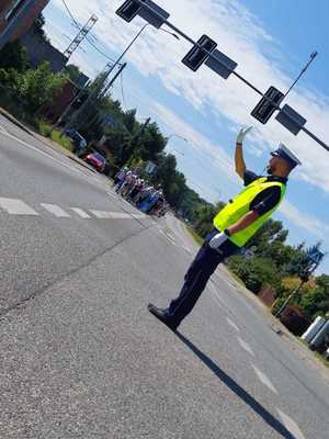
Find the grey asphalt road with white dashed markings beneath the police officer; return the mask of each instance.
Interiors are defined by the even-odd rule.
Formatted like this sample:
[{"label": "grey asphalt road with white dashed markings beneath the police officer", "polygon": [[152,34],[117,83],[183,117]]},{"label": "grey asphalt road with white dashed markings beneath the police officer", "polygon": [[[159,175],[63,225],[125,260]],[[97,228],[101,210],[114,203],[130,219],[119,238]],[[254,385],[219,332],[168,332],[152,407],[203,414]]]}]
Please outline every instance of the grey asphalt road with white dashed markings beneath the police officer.
[{"label": "grey asphalt road with white dashed markings beneath the police officer", "polygon": [[147,312],[195,244],[0,117],[0,437],[328,439],[329,390],[223,269],[174,334]]}]

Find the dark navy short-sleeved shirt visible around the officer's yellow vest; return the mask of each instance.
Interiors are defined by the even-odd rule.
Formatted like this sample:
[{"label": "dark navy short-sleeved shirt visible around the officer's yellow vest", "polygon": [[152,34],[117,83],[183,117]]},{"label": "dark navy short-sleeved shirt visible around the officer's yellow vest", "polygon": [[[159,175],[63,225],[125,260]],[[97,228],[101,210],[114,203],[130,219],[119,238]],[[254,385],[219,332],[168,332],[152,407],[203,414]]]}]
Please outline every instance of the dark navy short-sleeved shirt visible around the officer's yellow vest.
[{"label": "dark navy short-sleeved shirt visible around the officer's yellow vest", "polygon": [[[245,185],[252,183],[252,181],[261,178],[252,171],[246,171],[243,176]],[[280,181],[286,184],[287,179],[276,176],[268,176],[266,181]],[[276,206],[281,199],[281,189],[279,185],[272,185],[260,192],[250,203],[250,211],[256,211],[259,215],[263,215]]]}]

